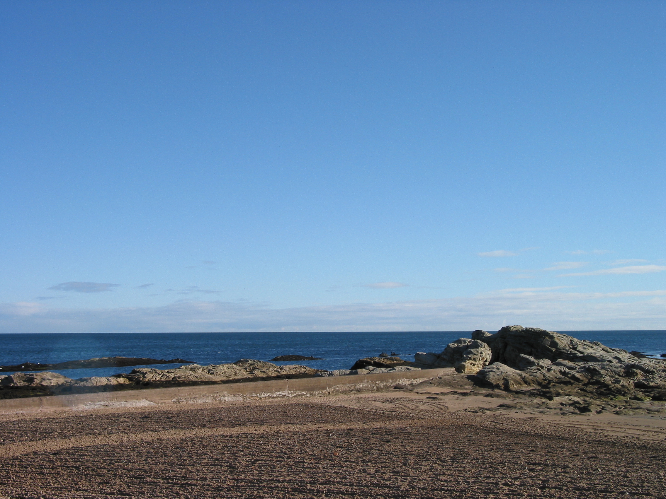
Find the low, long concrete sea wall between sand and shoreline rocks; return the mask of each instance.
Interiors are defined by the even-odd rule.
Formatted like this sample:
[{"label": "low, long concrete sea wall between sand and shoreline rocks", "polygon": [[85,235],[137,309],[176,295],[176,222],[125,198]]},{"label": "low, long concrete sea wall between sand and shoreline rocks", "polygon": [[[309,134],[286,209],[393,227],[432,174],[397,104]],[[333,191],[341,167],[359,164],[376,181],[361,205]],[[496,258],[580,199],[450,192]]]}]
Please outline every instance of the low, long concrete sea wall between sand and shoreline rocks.
[{"label": "low, long concrete sea wall between sand and shoreline rocks", "polygon": [[275,379],[224,385],[156,388],[117,392],[54,395],[0,400],[0,415],[46,411],[84,411],[113,407],[149,407],[163,404],[192,404],[281,397],[325,397],[354,391],[382,391],[394,385],[415,385],[449,373],[452,369],[422,369],[398,373]]}]

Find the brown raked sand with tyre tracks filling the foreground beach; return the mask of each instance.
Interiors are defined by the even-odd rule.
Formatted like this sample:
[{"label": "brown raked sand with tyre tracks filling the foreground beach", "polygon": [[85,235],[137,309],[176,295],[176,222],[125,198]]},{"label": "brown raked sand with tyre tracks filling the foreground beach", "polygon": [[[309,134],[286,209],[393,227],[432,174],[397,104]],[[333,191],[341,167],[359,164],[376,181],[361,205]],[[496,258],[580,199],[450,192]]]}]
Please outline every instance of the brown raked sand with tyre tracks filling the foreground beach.
[{"label": "brown raked sand with tyre tracks filling the foreground beach", "polygon": [[1,416],[0,496],[666,498],[664,416],[478,412],[503,402],[392,391]]}]

